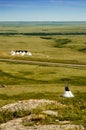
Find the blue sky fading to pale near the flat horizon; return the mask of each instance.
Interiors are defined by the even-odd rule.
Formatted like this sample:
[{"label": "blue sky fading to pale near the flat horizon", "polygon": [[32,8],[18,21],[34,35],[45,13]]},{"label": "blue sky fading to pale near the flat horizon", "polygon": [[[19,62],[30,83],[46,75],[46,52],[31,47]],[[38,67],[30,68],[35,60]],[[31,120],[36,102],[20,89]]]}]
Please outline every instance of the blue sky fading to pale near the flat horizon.
[{"label": "blue sky fading to pale near the flat horizon", "polygon": [[86,21],[86,0],[0,0],[0,21]]}]

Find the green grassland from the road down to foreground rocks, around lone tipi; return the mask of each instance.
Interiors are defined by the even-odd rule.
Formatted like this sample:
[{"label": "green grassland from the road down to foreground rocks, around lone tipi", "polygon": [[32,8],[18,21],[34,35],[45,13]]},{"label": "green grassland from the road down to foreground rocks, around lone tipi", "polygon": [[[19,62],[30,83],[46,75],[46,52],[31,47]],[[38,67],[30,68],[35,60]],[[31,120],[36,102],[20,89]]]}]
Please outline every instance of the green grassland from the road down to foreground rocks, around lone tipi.
[{"label": "green grassland from the road down to foreground rocks, around lone tipi", "polygon": [[[67,81],[74,98],[61,97]],[[66,108],[51,106],[52,110],[59,112],[60,121],[67,120],[86,127],[86,69],[0,62],[0,84],[7,86],[0,88],[0,107],[20,100],[56,100],[67,105]],[[0,115],[3,122],[4,116]],[[49,123],[50,119],[55,123],[56,118],[50,116],[47,119]]]}]

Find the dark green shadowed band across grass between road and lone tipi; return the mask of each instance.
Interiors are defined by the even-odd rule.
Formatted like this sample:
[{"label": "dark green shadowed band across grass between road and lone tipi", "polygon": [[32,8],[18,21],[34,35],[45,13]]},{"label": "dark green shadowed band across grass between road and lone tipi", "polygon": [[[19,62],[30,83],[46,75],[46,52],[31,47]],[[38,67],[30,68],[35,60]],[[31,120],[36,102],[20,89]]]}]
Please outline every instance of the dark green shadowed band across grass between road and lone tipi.
[{"label": "dark green shadowed band across grass between road and lone tipi", "polygon": [[[33,72],[19,72],[18,74],[11,74],[8,72],[4,72],[0,70],[0,84],[6,84],[6,85],[20,85],[20,84],[57,84],[57,83],[66,83],[69,82],[72,85],[75,86],[85,86],[86,85],[86,77],[85,76],[70,76],[70,77],[60,77],[60,78],[49,78],[47,79],[47,75],[51,75],[52,73],[44,73],[42,72],[41,75],[43,79],[38,79],[38,77],[34,78]],[[56,73],[55,73],[56,74]],[[27,78],[25,76],[29,75],[30,77]]]}]

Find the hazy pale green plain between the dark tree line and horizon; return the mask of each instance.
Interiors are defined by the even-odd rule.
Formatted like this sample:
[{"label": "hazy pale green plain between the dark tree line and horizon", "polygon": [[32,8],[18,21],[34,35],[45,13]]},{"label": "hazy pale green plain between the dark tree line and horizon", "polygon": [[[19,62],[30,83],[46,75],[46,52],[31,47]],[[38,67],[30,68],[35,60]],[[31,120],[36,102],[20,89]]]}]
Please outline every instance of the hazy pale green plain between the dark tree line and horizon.
[{"label": "hazy pale green plain between the dark tree line and horizon", "polygon": [[0,24],[0,32],[85,32],[86,23],[5,23]]}]

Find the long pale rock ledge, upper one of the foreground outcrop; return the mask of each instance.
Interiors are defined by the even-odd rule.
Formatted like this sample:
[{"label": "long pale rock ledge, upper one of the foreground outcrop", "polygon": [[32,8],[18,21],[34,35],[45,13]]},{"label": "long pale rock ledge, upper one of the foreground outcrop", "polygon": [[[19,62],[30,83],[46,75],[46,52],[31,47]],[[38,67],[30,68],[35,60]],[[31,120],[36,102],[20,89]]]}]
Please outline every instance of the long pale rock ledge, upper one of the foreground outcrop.
[{"label": "long pale rock ledge, upper one of the foreground outcrop", "polygon": [[[57,104],[56,101],[50,101],[50,100],[23,100],[23,101],[19,101],[17,103],[13,103],[13,104],[8,104],[3,106],[2,108],[0,108],[0,111],[3,110],[10,110],[12,112],[14,111],[18,111],[18,110],[28,110],[31,111],[32,109],[36,109],[37,107],[42,107],[42,106],[46,106],[49,104]],[[58,104],[61,105],[62,104]]]}]

